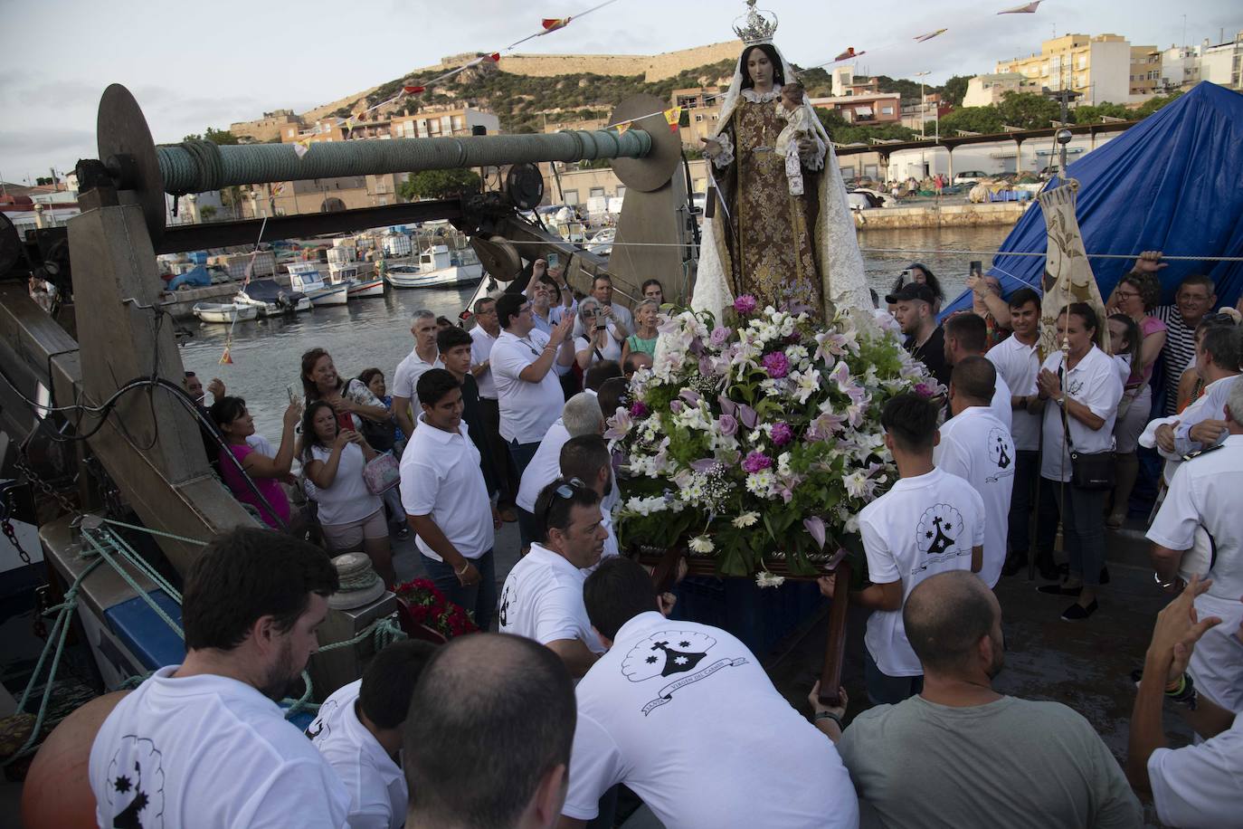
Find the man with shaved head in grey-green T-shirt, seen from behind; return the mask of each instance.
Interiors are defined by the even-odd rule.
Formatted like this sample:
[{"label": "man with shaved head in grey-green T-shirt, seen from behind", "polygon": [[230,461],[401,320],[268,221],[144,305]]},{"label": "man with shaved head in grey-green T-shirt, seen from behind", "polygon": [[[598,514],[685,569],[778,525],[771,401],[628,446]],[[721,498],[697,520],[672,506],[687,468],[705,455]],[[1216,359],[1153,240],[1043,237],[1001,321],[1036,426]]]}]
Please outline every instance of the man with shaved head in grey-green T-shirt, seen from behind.
[{"label": "man with shaved head in grey-green T-shirt, seen from behind", "polygon": [[[966,570],[921,582],[902,609],[924,690],[864,711],[838,752],[863,825],[1137,827],[1121,767],[1091,725],[1059,702],[997,694],[1002,610]],[[1034,783],[1034,784],[1033,784]]]}]

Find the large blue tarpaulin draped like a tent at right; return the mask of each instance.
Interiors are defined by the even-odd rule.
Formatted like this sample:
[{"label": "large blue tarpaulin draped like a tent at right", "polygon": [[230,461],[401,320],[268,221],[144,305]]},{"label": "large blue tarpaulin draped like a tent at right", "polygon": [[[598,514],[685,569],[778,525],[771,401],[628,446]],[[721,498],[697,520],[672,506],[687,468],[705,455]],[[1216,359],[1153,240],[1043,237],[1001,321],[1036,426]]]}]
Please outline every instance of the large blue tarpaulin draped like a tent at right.
[{"label": "large blue tarpaulin draped like a tent at right", "polygon": [[[1243,94],[1202,82],[1117,138],[1070,164],[1079,181],[1076,215],[1089,254],[1163,251],[1166,256],[1243,256]],[[1058,186],[1054,179],[1049,188]],[[1006,251],[1044,252],[1044,214],[1033,205],[1014,225],[989,271],[1002,293],[1029,283],[1039,290],[1044,259]],[[1101,297],[1108,297],[1134,260],[1089,259]],[[1243,262],[1170,262],[1158,276],[1162,303],[1178,283],[1207,273],[1217,306],[1233,306],[1243,291]],[[942,316],[971,308],[965,291]]]}]

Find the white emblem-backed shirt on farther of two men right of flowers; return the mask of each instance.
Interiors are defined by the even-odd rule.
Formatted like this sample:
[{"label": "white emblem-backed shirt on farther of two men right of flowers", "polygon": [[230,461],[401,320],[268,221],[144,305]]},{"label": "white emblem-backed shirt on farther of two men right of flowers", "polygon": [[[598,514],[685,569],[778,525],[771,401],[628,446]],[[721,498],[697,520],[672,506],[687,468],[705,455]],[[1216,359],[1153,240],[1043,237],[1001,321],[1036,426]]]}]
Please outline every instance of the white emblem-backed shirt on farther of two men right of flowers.
[{"label": "white emblem-backed shirt on farther of two men right of flowers", "polygon": [[979,578],[996,587],[1006,563],[1009,502],[1014,488],[1014,441],[992,408],[968,406],[941,426],[932,462],[966,480],[984,502],[984,564]]}]

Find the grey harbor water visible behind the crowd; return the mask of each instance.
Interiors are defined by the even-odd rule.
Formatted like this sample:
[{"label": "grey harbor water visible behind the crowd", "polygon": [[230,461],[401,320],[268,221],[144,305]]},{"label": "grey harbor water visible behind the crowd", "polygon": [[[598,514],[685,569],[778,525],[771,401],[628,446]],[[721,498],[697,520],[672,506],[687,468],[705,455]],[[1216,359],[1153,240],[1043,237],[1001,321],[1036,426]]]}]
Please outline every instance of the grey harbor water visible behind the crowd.
[{"label": "grey harbor water visible behind the crowd", "polygon": [[[881,297],[899,272],[911,262],[927,265],[953,298],[963,288],[971,260],[991,257],[955,251],[996,251],[1009,227],[945,227],[940,230],[859,231],[864,249],[935,250],[936,254],[865,252],[868,282]],[[659,275],[658,275],[659,277]],[[394,291],[384,297],[355,298],[347,306],[321,307],[290,319],[259,319],[232,327],[231,364],[220,364],[230,327],[186,323],[194,337],[183,343],[186,370],[198,373],[203,384],[219,377],[229,394],[246,399],[255,416],[255,429],[273,442],[281,437],[281,415],[288,405],[286,387],[301,395],[298,379],[302,353],[326,348],[342,377],[357,377],[365,368],[379,368],[388,382],[401,359],[410,353],[410,316],[426,308],[438,316],[457,319],[474,287]]]}]

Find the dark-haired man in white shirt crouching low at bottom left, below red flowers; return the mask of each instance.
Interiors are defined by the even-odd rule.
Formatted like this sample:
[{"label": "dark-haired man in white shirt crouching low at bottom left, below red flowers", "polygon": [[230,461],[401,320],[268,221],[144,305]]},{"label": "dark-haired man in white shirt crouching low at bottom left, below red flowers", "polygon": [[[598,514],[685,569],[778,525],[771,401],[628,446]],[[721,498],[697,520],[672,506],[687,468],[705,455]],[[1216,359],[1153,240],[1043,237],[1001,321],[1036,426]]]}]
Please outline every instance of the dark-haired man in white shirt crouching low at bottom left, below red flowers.
[{"label": "dark-haired man in white shirt crouching low at bottom left, below red flowers", "polygon": [[349,792],[349,829],[405,824],[409,792],[398,764],[401,736],[414,685],[435,650],[414,639],[380,650],[363,679],[328,695],[307,728]]}]

